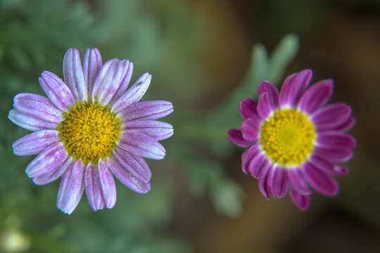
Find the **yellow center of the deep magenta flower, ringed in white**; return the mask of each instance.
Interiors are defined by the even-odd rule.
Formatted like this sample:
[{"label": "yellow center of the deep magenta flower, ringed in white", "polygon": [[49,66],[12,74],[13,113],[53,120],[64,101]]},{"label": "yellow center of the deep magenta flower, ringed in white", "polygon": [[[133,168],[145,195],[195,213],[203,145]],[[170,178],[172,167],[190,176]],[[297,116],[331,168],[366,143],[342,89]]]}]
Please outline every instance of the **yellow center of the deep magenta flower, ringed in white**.
[{"label": "yellow center of the deep magenta flower, ringed in white", "polygon": [[311,155],[315,138],[315,126],[308,115],[282,108],[262,122],[259,143],[272,163],[298,167]]}]

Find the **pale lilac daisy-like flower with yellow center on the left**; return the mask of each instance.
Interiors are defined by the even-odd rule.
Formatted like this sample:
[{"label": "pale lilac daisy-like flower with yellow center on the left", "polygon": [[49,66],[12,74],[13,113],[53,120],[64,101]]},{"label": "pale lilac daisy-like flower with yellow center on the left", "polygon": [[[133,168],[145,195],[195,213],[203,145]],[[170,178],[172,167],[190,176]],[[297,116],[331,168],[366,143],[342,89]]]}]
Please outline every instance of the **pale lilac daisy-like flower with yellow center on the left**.
[{"label": "pale lilac daisy-like flower with yellow center on the left", "polygon": [[143,74],[127,89],[133,64],[108,60],[97,48],[70,48],[63,58],[63,80],[49,71],[39,77],[46,97],[19,93],[8,119],[32,131],[12,145],[15,155],[37,155],[25,173],[39,185],[61,176],[57,207],[70,214],[84,189],[94,211],[116,202],[113,176],[137,193],[147,193],[151,171],[142,157],[163,159],[158,141],[172,126],[155,119],[169,115],[172,103],[140,102],[151,83]]}]

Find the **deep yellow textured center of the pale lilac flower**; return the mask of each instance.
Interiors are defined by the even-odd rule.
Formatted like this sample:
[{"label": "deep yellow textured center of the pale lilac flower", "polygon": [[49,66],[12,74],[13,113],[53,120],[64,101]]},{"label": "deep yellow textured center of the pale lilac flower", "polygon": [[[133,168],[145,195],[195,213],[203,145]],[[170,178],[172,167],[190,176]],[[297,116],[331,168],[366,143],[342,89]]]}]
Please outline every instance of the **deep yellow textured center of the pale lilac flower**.
[{"label": "deep yellow textured center of the pale lilac flower", "polygon": [[63,115],[57,130],[69,155],[84,164],[110,155],[120,134],[120,120],[110,110],[82,102]]}]

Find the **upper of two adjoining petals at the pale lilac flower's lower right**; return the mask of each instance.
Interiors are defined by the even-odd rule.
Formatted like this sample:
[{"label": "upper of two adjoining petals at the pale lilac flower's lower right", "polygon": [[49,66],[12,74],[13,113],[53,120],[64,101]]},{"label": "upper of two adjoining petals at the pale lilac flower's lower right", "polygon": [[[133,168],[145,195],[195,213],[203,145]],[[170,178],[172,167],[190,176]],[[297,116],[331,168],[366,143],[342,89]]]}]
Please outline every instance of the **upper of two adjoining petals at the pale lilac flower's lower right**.
[{"label": "upper of two adjoining petals at the pale lilac flower's lower right", "polygon": [[137,180],[144,182],[151,179],[151,170],[143,158],[137,155],[132,155],[121,148],[117,148],[112,154],[113,157],[115,157],[115,160],[118,160],[119,164],[127,169],[129,174],[134,176]]}]

